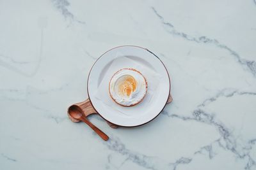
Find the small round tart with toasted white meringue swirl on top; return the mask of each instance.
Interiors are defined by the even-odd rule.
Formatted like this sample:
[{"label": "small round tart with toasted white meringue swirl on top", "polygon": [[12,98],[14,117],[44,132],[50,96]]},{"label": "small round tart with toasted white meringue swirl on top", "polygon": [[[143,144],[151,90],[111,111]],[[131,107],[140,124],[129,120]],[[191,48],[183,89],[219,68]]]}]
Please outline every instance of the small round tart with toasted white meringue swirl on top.
[{"label": "small round tart with toasted white meringue swirl on top", "polygon": [[140,103],[146,93],[147,80],[136,69],[120,69],[109,81],[109,95],[121,106],[129,107]]}]

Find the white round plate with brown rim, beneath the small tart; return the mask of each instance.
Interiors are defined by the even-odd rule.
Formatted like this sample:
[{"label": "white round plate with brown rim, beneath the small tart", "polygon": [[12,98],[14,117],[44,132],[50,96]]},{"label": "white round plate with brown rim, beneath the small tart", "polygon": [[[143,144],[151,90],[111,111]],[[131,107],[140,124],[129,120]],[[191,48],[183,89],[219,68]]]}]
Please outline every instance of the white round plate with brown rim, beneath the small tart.
[{"label": "white round plate with brown rim, beneath the small tart", "polygon": [[[150,97],[150,99],[143,100],[141,102],[142,104],[139,103],[136,106],[131,107],[122,107],[118,104],[115,105],[115,102],[111,101],[110,96],[108,102],[111,104],[113,102],[113,106],[109,106],[100,101],[99,91],[101,89],[99,89],[99,87],[102,88],[101,82],[104,80],[108,81],[104,76],[106,76],[107,69],[111,67],[111,63],[118,57],[132,57],[132,59],[136,59],[138,65],[147,66],[152,70],[152,72],[147,71],[147,74],[149,72],[161,76],[157,88],[153,89],[151,92],[152,97]],[[120,62],[118,67],[122,67],[122,64],[124,64],[124,67],[127,67],[127,62]],[[152,81],[152,79],[150,81]],[[148,86],[150,83],[154,82],[148,82]],[[108,87],[104,87],[104,89],[108,89]],[[146,48],[141,48],[139,46],[118,46],[105,52],[93,64],[88,76],[87,90],[93,108],[102,118],[112,124],[124,127],[134,127],[150,122],[150,120],[153,120],[159,113],[161,113],[170,94],[170,77],[163,62]],[[120,110],[122,113],[120,113]]]}]

